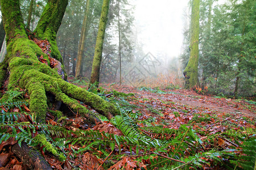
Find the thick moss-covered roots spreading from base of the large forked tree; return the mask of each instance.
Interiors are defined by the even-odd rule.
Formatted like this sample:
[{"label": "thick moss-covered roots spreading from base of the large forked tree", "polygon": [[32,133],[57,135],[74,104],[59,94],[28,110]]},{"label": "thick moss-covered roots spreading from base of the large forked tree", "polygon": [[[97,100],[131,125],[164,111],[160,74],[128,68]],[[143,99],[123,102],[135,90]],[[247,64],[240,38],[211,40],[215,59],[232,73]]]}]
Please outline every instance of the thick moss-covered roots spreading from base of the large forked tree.
[{"label": "thick moss-covered roots spreading from base of the large forked tree", "polygon": [[46,91],[53,94],[56,100],[62,101],[76,113],[85,116],[90,122],[95,122],[96,114],[88,111],[77,100],[89,105],[95,111],[108,118],[118,114],[118,109],[100,96],[65,82],[61,78],[54,78],[34,69],[24,72],[19,85],[28,89],[30,110],[35,113],[38,122],[43,122],[46,118],[48,108]]}]

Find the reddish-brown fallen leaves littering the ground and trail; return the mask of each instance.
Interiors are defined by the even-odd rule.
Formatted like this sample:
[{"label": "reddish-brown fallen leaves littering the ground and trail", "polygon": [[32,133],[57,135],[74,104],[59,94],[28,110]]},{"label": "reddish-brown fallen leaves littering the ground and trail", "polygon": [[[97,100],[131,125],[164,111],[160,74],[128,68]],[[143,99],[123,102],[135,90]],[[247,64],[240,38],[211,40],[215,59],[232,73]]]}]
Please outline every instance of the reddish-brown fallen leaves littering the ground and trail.
[{"label": "reddish-brown fallen leaves littering the ground and trail", "polygon": [[[217,155],[218,151],[231,151],[242,145],[243,142],[239,142],[235,137],[236,135],[246,134],[247,138],[255,138],[255,105],[247,103],[246,100],[218,99],[214,96],[198,95],[193,91],[186,90],[162,90],[158,94],[127,86],[110,87],[105,84],[104,88],[105,91],[101,92],[101,94],[110,94],[114,91],[134,94],[126,97],[114,95],[106,100],[110,102],[119,101],[119,105],[127,109],[129,116],[133,118],[141,134],[156,141],[172,141],[172,139],[179,137],[175,130],[184,128],[183,135],[187,134],[189,130],[195,132],[194,141],[189,141],[190,139],[184,135],[183,138],[179,138],[180,144],[183,142],[188,143],[189,147],[184,153],[179,153],[180,148],[177,144],[168,144],[164,146],[167,151],[161,152],[160,149],[156,153],[155,148],[150,146],[148,146],[150,149],[144,148],[143,150],[143,147],[130,146],[127,141],[118,143],[121,142],[118,140],[125,138],[125,135],[117,128],[116,122],[102,120],[97,125],[91,126],[87,125],[86,120],[80,115],[69,116],[63,121],[58,121],[51,113],[47,113],[48,124],[62,126],[67,130],[73,131],[63,141],[67,143],[63,148],[57,146],[60,150],[68,153],[65,162],[60,162],[49,152],[44,153],[48,163],[55,169],[72,169],[74,167],[80,169],[159,169],[164,168],[165,165],[160,163],[167,159],[173,159],[173,162],[169,165],[174,164],[174,162],[181,162],[180,166],[183,166],[185,162],[185,164],[192,164],[193,159],[189,159],[192,156],[191,152],[200,154],[200,152],[207,153],[207,151],[216,150]],[[85,107],[87,106],[85,105]],[[8,111],[8,108],[4,106],[2,106],[2,109]],[[20,107],[14,107],[10,111],[29,113],[30,109],[27,105],[22,104]],[[20,114],[19,121],[32,122],[31,117],[26,114]],[[153,127],[159,127],[159,131],[152,130],[154,129]],[[163,129],[169,130],[168,133]],[[114,145],[103,145],[101,142],[93,140],[84,143],[72,142],[70,138],[77,138],[76,131],[79,130],[98,131],[102,134],[102,140],[108,134],[112,134],[108,137],[110,141],[116,141],[116,143]],[[174,130],[174,133],[170,133],[170,130]],[[9,128],[9,131],[11,131],[11,128]],[[236,131],[241,133],[236,134]],[[86,135],[84,136],[86,137]],[[52,135],[52,138],[57,139],[55,135]],[[100,137],[97,138],[100,139]],[[10,138],[1,143],[0,167],[22,169],[22,160],[16,158],[10,150],[10,146],[16,142],[14,138]],[[191,145],[191,143],[195,145]],[[172,155],[168,154],[168,151],[173,155],[180,156],[175,156],[174,159]],[[176,152],[179,154],[176,154]],[[236,152],[237,154],[242,153],[239,150],[236,150]],[[218,157],[221,158],[221,156],[217,155],[214,159]],[[180,160],[181,158],[182,160]],[[213,158],[207,154],[201,155],[198,162],[195,163],[198,163],[198,168],[223,168],[221,163],[216,164]],[[192,165],[190,168],[195,169]]]}]

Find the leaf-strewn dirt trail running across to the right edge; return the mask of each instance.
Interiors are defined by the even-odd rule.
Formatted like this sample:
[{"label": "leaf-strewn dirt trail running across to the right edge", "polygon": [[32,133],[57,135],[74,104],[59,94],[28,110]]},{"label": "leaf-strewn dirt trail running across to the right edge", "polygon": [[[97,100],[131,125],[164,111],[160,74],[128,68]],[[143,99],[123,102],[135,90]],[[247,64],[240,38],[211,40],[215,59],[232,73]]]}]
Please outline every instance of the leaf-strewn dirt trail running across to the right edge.
[{"label": "leaf-strewn dirt trail running across to the right edge", "polygon": [[[108,86],[106,86],[108,87]],[[104,87],[105,88],[105,87]],[[126,94],[133,93],[139,99],[161,100],[163,103],[173,102],[199,111],[238,114],[240,116],[256,117],[255,104],[246,100],[226,99],[218,96],[199,95],[190,90],[147,91],[129,86],[112,86],[111,89]],[[155,106],[156,108],[159,106]]]}]

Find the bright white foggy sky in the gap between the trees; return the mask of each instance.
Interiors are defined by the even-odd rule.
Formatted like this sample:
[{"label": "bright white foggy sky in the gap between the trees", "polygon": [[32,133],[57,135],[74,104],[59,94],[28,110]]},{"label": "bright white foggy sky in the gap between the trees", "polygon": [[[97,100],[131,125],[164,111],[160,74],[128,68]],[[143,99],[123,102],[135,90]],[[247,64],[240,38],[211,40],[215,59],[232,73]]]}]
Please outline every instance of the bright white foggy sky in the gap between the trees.
[{"label": "bright white foggy sky in the gap between the trees", "polygon": [[188,0],[135,0],[134,5],[138,41],[144,44],[144,53],[179,56]]}]

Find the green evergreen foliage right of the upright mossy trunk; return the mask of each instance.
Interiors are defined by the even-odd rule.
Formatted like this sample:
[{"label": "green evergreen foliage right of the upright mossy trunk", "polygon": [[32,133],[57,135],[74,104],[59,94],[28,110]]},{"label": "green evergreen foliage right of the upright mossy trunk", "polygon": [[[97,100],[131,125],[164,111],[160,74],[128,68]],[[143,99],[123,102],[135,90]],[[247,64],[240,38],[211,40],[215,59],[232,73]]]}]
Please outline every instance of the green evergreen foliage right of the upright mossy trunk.
[{"label": "green evergreen foliage right of the upright mossy trunk", "polygon": [[[254,95],[255,2],[230,0],[224,5],[214,2],[200,2],[201,88],[207,87],[212,94]],[[181,58],[183,65],[186,65],[187,50]]]}]

